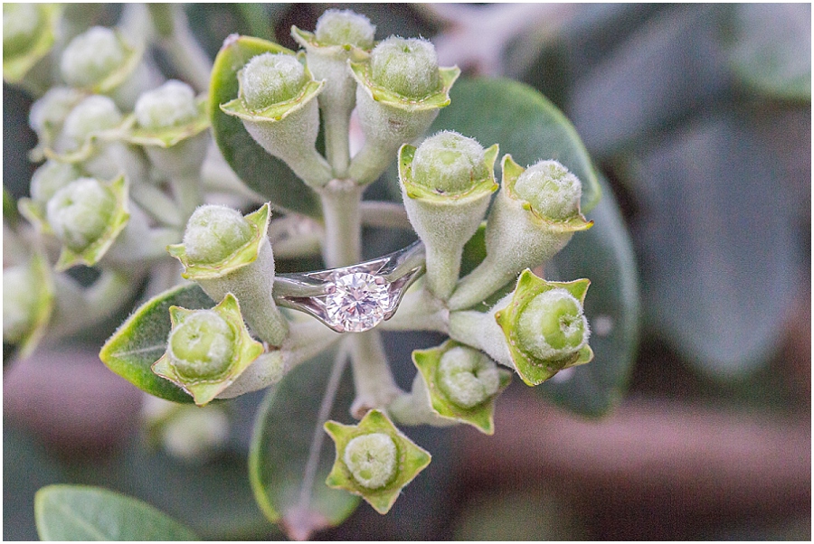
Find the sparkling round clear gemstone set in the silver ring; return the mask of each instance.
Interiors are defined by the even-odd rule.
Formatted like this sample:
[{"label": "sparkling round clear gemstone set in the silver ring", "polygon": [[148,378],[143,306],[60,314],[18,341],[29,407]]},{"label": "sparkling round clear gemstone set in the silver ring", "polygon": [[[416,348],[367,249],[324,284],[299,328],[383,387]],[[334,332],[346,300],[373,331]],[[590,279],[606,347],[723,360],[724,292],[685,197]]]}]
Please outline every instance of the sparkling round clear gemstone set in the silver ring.
[{"label": "sparkling round clear gemstone set in the silver ring", "polygon": [[374,328],[390,305],[388,287],[383,277],[364,272],[337,277],[326,297],[327,321],[351,333]]}]

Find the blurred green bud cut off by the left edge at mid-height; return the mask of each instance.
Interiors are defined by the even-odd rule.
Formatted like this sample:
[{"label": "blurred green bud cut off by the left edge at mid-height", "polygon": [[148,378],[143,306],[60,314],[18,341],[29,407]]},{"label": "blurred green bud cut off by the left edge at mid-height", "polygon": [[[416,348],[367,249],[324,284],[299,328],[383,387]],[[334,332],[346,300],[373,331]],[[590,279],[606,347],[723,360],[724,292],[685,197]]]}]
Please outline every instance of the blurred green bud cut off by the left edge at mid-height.
[{"label": "blurred green bud cut off by the left edge at mid-height", "polygon": [[3,269],[3,342],[28,356],[43,337],[53,308],[53,281],[39,254],[25,265]]}]

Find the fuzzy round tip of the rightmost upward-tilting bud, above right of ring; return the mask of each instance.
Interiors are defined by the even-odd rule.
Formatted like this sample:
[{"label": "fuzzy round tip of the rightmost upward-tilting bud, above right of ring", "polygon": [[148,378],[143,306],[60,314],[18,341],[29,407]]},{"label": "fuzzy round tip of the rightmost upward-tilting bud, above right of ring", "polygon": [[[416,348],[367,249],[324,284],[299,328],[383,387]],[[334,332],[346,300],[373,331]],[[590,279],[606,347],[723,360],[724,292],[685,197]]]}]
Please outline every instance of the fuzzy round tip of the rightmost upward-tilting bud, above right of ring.
[{"label": "fuzzy round tip of the rightmost upward-tilting bud, above right of ring", "polygon": [[540,161],[520,174],[515,192],[544,217],[564,220],[579,211],[582,183],[563,164]]}]

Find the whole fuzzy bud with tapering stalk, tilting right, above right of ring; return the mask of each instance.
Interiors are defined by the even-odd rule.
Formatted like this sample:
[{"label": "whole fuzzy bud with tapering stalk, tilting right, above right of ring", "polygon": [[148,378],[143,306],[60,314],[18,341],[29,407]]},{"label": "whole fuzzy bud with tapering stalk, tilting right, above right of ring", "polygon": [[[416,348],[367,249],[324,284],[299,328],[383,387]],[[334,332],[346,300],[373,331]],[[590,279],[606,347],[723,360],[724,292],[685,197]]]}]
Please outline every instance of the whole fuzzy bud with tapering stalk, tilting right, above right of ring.
[{"label": "whole fuzzy bud with tapering stalk, tilting right, above right of ring", "polygon": [[502,166],[503,183],[487,217],[487,257],[460,280],[450,310],[476,305],[524,268],[544,265],[574,232],[593,225],[580,213],[579,180],[561,164],[542,161],[525,170],[505,155]]}]

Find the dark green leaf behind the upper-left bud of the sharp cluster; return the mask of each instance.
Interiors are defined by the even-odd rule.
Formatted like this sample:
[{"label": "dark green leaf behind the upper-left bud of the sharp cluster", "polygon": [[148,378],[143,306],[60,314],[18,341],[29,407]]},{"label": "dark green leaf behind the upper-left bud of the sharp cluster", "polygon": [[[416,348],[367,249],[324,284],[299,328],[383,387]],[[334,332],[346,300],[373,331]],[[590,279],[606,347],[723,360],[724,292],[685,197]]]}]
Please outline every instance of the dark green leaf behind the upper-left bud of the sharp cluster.
[{"label": "dark green leaf behind the upper-left bud of the sharp cluster", "polygon": [[255,55],[288,52],[286,48],[247,36],[230,36],[215,58],[209,90],[212,132],[223,158],[232,170],[256,192],[280,208],[311,217],[321,215],[317,193],[303,183],[279,159],[255,142],[241,119],[222,112],[220,106],[238,96],[237,72]]}]

